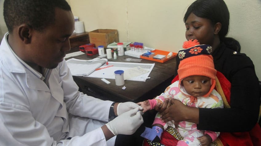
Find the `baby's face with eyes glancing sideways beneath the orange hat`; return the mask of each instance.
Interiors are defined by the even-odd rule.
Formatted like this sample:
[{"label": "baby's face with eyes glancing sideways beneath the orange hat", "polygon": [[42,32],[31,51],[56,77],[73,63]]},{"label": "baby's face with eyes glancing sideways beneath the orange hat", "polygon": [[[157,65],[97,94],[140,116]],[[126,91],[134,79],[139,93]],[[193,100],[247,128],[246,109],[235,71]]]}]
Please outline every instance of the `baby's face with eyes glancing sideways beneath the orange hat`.
[{"label": "baby's face with eyes glancing sideways beneath the orange hat", "polygon": [[189,76],[182,80],[182,84],[188,94],[199,97],[207,94],[211,87],[211,79],[206,76]]}]

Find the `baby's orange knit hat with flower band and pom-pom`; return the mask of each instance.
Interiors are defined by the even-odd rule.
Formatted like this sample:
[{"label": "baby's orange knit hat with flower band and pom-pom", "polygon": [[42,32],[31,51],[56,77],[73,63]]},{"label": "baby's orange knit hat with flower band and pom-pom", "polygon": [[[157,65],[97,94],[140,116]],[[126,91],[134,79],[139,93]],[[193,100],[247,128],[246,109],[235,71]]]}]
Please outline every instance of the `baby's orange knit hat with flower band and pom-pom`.
[{"label": "baby's orange knit hat with flower band and pom-pom", "polygon": [[[200,75],[211,78],[211,89],[215,87],[216,69],[211,56],[212,47],[209,45],[200,45],[198,40],[189,40],[183,43],[184,49],[179,50],[179,84],[189,76]],[[210,93],[209,92],[209,93]],[[206,95],[208,96],[208,95]]]}]

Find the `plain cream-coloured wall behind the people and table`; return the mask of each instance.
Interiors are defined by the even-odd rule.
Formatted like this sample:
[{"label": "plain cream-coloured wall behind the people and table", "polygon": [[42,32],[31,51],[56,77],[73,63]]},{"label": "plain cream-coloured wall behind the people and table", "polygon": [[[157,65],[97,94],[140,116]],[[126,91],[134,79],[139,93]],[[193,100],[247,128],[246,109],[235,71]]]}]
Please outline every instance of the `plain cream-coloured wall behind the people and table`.
[{"label": "plain cream-coloured wall behind the people and table", "polygon": [[[2,1],[0,4],[2,6]],[[177,52],[185,39],[183,16],[194,0],[67,0],[85,31],[117,29],[120,42],[142,42],[147,47]],[[230,11],[229,37],[241,44],[261,80],[261,0],[225,0]],[[0,8],[2,13],[2,8]],[[3,29],[2,16],[0,28]],[[1,34],[0,34],[1,37]]]}]

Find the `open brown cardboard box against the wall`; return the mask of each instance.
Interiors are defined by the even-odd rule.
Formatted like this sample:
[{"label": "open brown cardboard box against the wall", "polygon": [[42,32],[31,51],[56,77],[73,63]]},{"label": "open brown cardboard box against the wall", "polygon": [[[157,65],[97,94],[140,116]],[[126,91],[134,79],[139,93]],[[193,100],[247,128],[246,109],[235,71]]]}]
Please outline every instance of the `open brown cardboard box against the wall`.
[{"label": "open brown cardboard box against the wall", "polygon": [[113,42],[119,42],[119,35],[116,29],[96,29],[89,32],[90,43],[94,43],[96,47],[107,45]]}]

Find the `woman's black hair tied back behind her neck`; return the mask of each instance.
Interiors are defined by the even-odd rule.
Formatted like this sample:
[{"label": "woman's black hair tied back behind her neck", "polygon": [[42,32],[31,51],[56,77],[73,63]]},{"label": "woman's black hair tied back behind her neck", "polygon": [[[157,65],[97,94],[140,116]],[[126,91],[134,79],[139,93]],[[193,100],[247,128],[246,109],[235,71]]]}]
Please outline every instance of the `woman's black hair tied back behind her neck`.
[{"label": "woman's black hair tied back behind her neck", "polygon": [[187,9],[183,21],[186,22],[188,16],[193,13],[197,17],[206,18],[214,25],[221,23],[219,39],[227,47],[240,52],[240,44],[237,40],[226,37],[229,30],[229,11],[223,0],[196,0]]}]

